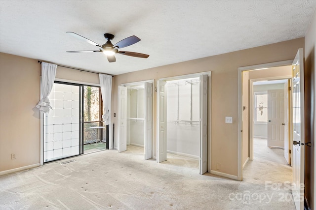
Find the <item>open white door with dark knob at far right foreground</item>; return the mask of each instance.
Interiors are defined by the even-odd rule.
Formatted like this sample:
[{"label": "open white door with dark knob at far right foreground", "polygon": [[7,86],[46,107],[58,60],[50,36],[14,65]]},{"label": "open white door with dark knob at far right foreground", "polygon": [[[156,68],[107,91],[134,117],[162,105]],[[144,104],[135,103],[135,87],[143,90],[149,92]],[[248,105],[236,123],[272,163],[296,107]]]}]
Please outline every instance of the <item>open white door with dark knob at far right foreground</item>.
[{"label": "open white door with dark knob at far right foreground", "polygon": [[304,66],[303,48],[300,48],[292,64],[292,129],[293,129],[293,199],[297,210],[304,209]]}]

